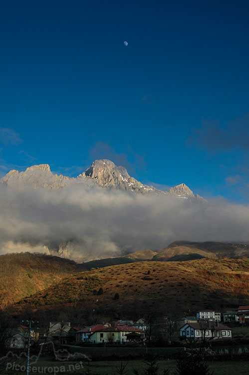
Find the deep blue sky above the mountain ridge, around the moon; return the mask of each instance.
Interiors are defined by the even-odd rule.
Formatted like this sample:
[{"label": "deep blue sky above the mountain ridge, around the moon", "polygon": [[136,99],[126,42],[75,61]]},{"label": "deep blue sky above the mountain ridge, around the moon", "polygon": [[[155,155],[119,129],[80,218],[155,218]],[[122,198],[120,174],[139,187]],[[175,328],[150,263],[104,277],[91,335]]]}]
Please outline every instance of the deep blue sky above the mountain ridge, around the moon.
[{"label": "deep blue sky above the mountain ridge, around the moon", "polygon": [[2,2],[1,175],[105,157],[248,202],[248,14],[247,0]]}]

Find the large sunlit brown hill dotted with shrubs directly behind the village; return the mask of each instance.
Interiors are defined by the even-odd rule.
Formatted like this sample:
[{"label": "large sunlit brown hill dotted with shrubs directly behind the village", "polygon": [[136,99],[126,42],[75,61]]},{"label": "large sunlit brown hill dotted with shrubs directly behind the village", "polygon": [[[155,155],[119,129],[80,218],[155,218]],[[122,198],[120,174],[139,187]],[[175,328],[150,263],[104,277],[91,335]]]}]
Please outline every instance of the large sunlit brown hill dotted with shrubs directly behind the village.
[{"label": "large sunlit brown hill dotted with shrubs directly behind the village", "polygon": [[[104,292],[96,295],[100,287]],[[16,307],[37,309],[87,300],[95,301],[101,311],[127,311],[138,303],[163,302],[185,311],[248,303],[249,259],[143,261],[84,271],[22,299]]]}]

